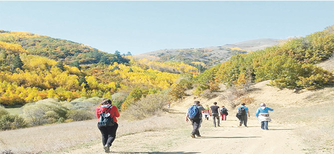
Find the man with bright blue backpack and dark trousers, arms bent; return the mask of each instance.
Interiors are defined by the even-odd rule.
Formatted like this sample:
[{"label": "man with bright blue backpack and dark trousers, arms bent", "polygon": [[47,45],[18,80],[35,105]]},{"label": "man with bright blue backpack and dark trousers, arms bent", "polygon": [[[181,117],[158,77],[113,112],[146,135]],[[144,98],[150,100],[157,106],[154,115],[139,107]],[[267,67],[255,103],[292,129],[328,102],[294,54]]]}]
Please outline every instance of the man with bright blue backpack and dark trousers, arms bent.
[{"label": "man with bright blue backpack and dark trousers, arms bent", "polygon": [[202,111],[205,110],[205,108],[200,104],[199,101],[194,101],[194,104],[190,107],[188,107],[188,111],[185,114],[185,121],[188,122],[188,118],[191,121],[192,124],[192,132],[190,136],[192,138],[201,137],[199,134],[199,128],[200,124],[202,123]]}]

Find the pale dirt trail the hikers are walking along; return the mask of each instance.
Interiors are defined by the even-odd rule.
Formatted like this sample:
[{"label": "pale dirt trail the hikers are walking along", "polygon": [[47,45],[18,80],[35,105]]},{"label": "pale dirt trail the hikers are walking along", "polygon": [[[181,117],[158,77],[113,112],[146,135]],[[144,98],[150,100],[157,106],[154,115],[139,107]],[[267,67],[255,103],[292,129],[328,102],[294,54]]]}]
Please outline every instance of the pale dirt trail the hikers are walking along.
[{"label": "pale dirt trail the hikers are walking along", "polygon": [[[180,125],[174,129],[142,132],[117,137],[111,147],[113,154],[305,154],[302,140],[294,134],[294,125],[269,123],[270,130],[261,130],[252,117],[248,128],[238,127],[234,116],[227,116],[222,127],[213,127],[212,119],[204,120],[201,138],[189,135],[192,126],[182,114],[171,114]],[[224,149],[224,151],[222,151]],[[61,154],[104,154],[100,141],[92,146]]]}]

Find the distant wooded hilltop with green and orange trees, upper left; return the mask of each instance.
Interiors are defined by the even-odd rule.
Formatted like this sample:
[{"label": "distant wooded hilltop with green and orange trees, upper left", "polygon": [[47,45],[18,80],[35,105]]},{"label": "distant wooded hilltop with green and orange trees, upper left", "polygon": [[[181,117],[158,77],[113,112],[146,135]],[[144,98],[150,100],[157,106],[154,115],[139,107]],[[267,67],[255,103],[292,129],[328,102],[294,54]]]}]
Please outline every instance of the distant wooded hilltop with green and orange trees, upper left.
[{"label": "distant wooded hilltop with green and orange trees, upper left", "polygon": [[128,63],[118,54],[109,54],[88,45],[28,32],[0,30],[0,42],[20,45],[29,54],[48,57],[65,64],[90,65]]}]

